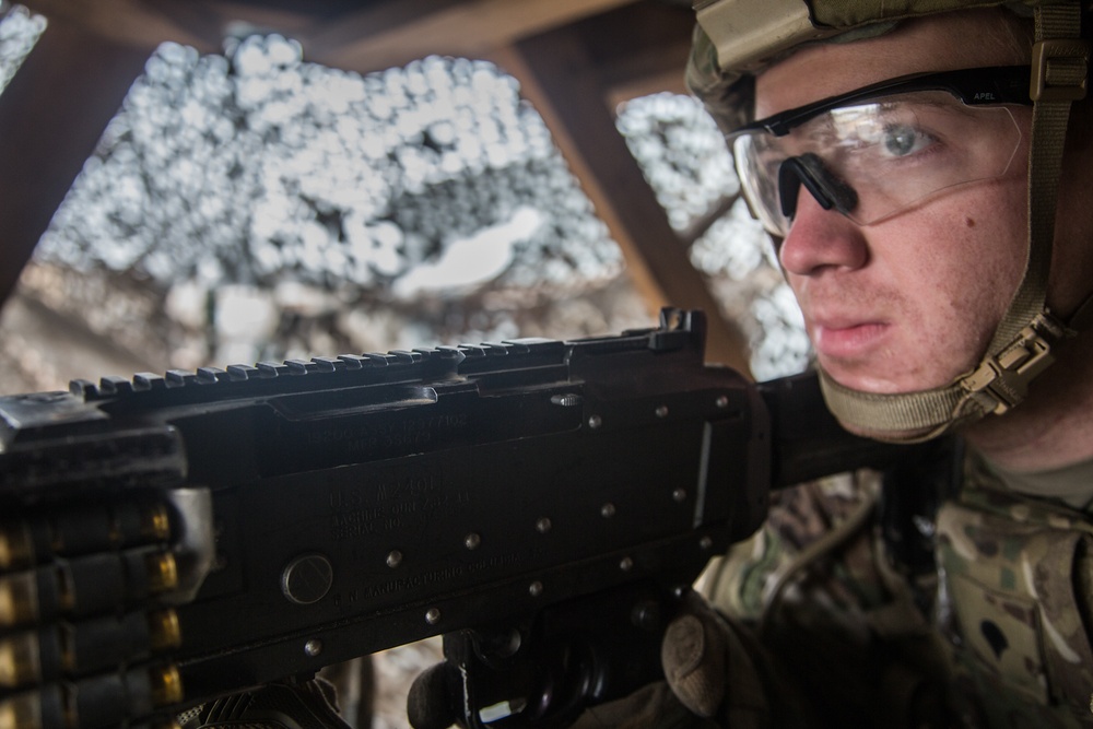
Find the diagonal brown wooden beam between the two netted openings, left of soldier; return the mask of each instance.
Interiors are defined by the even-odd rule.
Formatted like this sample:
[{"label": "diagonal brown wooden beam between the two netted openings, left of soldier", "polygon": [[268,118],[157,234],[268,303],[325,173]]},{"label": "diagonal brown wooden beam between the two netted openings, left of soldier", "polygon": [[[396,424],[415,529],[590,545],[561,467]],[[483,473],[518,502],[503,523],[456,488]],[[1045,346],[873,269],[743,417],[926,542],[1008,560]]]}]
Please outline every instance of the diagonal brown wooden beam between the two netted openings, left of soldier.
[{"label": "diagonal brown wooden beam between the two netted openings, left of soldier", "polygon": [[[620,19],[624,20],[624,19]],[[626,258],[650,309],[698,308],[709,320],[708,361],[749,372],[747,339],[726,321],[686,247],[642,175],[606,103],[587,42],[575,27],[528,38],[493,58],[521,83]]]}]

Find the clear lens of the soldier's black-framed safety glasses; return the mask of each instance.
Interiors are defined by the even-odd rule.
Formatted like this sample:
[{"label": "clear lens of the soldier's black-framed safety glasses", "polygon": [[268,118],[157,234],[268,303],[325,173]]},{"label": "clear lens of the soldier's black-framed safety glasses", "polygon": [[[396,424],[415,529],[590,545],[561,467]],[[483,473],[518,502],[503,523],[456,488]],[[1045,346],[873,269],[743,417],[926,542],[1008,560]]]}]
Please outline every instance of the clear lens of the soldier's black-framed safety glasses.
[{"label": "clear lens of the soldier's black-framed safety glasses", "polygon": [[[778,172],[790,157],[814,154],[857,192],[847,216],[870,225],[952,188],[1001,177],[1021,148],[1009,107],[972,107],[937,92],[896,94],[831,109],[784,137],[765,131],[732,142],[740,181],[753,212],[785,237]],[[807,195],[807,192],[799,192]]]}]

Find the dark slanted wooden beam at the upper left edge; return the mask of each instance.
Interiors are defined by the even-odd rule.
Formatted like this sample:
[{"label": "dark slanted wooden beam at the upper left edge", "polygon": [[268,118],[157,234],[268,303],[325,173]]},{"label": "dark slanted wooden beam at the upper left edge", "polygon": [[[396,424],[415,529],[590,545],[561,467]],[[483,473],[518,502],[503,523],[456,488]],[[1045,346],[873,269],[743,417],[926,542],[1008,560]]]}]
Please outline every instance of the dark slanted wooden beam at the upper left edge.
[{"label": "dark slanted wooden beam at the upper left edge", "polygon": [[0,94],[0,304],[148,52],[54,20]]}]

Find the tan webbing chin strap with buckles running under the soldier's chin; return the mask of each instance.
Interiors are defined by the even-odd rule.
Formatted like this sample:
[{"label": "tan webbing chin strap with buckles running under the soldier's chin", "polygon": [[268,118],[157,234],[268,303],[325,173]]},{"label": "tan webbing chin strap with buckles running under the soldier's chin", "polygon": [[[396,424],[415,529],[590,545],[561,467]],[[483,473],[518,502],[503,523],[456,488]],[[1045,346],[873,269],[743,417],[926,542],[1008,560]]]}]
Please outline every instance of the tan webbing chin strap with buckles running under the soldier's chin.
[{"label": "tan webbing chin strap with buckles running under the soldier's chin", "polygon": [[[1022,402],[1029,383],[1055,355],[1051,348],[1093,324],[1093,297],[1063,325],[1046,307],[1055,214],[1067,121],[1072,102],[1084,97],[1090,42],[1081,37],[1081,2],[1036,8],[1033,46],[1033,120],[1029,152],[1029,250],[1010,306],[971,372],[947,386],[906,393],[854,390],[820,372],[828,409],[848,428],[879,440],[917,443]],[[1073,327],[1073,328],[1071,328]]]}]

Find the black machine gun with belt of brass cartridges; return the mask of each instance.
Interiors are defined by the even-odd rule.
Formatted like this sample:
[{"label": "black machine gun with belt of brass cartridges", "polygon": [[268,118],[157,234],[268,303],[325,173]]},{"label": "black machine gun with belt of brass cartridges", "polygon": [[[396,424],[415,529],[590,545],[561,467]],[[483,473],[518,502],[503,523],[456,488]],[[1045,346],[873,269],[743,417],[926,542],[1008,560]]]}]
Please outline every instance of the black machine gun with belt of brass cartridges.
[{"label": "black machine gun with belt of brass cartridges", "polygon": [[[772,486],[893,458],[814,380],[615,337],[315,357],[0,398],[0,728],[186,707],[445,634],[461,722],[565,726]],[[902,451],[906,454],[906,451]]]}]

